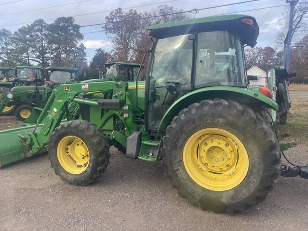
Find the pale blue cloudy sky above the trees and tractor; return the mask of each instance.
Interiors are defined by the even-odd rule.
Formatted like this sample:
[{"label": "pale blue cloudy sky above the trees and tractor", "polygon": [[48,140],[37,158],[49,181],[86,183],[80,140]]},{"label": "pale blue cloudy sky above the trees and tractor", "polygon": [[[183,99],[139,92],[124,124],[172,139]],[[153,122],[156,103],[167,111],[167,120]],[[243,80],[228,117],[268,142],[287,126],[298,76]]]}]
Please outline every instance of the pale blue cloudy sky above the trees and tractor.
[{"label": "pale blue cloudy sky above the trees and tractor", "polygon": [[[189,14],[192,18],[200,18],[221,14],[245,14],[256,19],[260,34],[257,47],[275,47],[275,38],[281,31],[279,18],[285,0],[1,0],[0,1],[0,29],[5,28],[12,33],[19,28],[30,25],[37,19],[46,23],[53,23],[59,17],[73,17],[75,23],[81,26],[80,32],[84,36],[87,60],[90,61],[95,50],[102,48],[110,51],[112,44],[108,40],[101,26],[105,17],[117,8],[128,12],[130,9],[138,13],[149,12],[160,5],[173,6],[183,11],[199,9],[197,14]],[[236,5],[230,5],[241,3]],[[222,5],[230,5],[217,7]],[[214,8],[216,7],[216,8]],[[211,8],[211,9],[205,9]],[[91,26],[94,25],[95,26]],[[98,24],[98,25],[97,25]]]}]

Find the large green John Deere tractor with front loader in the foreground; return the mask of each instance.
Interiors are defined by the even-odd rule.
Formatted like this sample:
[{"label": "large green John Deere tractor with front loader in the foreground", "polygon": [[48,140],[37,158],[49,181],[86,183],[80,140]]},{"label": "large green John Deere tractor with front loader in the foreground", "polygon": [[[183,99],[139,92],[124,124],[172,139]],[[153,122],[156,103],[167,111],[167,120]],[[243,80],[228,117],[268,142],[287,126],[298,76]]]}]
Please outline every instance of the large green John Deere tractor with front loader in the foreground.
[{"label": "large green John Deere tractor with front loader in the foreground", "polygon": [[[179,194],[203,210],[235,213],[263,201],[281,174],[280,151],[296,142],[279,144],[264,119],[268,109],[278,110],[272,92],[247,87],[243,46],[256,44],[255,19],[190,19],[147,34],[145,80],[54,88],[45,107],[35,108],[36,125],[0,132],[1,165],[47,149],[62,180],[87,185],[106,171],[109,147],[121,145],[127,158],[162,160]],[[72,102],[87,108],[79,118],[68,109]],[[295,175],[307,178],[304,168]]]}]

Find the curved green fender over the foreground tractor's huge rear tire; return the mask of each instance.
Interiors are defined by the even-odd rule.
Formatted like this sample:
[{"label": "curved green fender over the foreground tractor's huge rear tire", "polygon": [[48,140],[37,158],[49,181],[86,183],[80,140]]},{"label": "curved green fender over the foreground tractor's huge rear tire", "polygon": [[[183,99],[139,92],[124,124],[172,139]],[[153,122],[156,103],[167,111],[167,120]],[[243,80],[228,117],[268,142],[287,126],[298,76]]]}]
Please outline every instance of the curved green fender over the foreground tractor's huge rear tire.
[{"label": "curved green fender over the foreground tractor's huge rear tire", "polygon": [[278,104],[272,98],[263,94],[258,87],[253,89],[230,86],[206,87],[189,92],[176,100],[165,113],[158,132],[165,131],[167,126],[171,124],[173,118],[177,116],[182,109],[187,108],[195,102],[215,98],[236,101],[251,107],[256,112],[260,112],[265,108],[278,110]]}]

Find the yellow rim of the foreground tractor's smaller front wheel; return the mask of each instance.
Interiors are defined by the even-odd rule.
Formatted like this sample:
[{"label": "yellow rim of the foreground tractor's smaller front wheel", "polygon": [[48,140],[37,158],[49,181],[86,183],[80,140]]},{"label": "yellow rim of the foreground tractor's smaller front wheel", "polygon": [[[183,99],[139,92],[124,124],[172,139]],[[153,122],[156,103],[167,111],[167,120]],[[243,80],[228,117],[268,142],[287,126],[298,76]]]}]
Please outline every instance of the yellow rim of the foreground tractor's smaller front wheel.
[{"label": "yellow rim of the foreground tractor's smaller front wheel", "polygon": [[57,158],[65,171],[83,173],[89,165],[89,150],[85,143],[75,136],[66,136],[58,144]]}]

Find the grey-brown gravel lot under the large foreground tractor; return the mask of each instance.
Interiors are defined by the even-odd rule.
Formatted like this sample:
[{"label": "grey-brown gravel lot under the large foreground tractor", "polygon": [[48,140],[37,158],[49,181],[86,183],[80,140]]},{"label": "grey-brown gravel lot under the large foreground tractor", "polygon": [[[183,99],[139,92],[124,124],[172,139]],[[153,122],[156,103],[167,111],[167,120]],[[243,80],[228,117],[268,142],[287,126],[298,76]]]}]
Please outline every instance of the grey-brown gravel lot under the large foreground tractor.
[{"label": "grey-brown gravel lot under the large foreground tractor", "polygon": [[[0,129],[18,127],[1,117]],[[3,138],[1,138],[3,139]],[[280,177],[271,195],[246,213],[201,211],[178,196],[161,162],[127,159],[111,147],[110,165],[88,186],[68,185],[47,155],[0,168],[0,230],[304,230],[308,181]],[[308,163],[308,149],[285,155]]]}]

